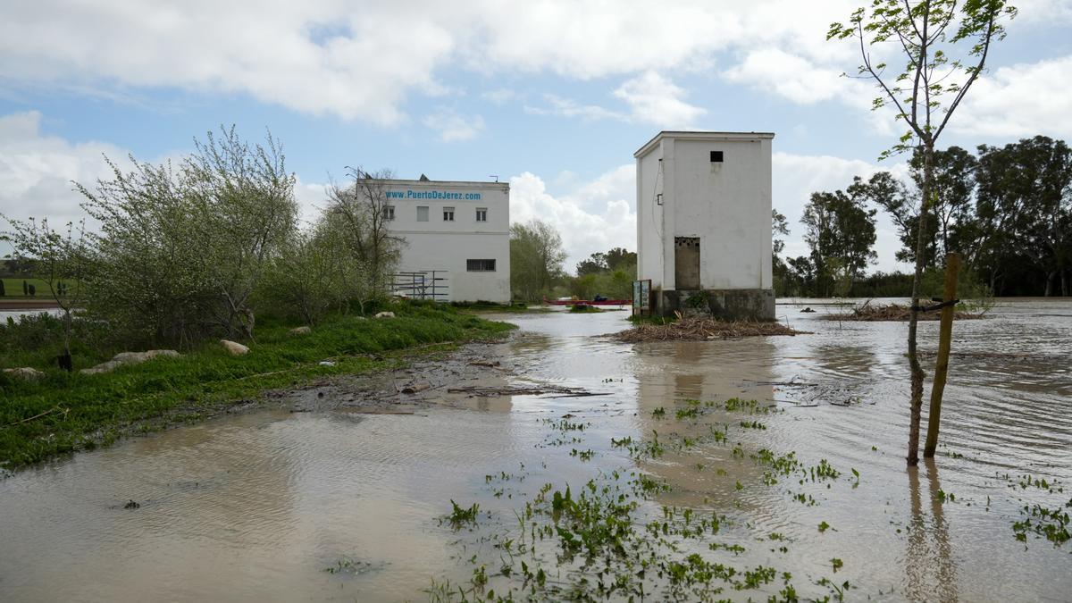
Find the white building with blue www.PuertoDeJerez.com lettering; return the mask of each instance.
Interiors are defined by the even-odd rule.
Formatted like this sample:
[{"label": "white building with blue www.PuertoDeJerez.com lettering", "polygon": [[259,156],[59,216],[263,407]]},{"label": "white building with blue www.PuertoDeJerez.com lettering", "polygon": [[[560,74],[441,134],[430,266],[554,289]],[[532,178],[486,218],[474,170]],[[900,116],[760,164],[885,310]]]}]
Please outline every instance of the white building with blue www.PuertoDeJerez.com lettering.
[{"label": "white building with blue www.PuertoDeJerez.com lettering", "polygon": [[[405,239],[400,273],[432,271],[440,299],[510,302],[510,186],[386,180],[392,234]],[[445,289],[444,289],[445,285]]]}]

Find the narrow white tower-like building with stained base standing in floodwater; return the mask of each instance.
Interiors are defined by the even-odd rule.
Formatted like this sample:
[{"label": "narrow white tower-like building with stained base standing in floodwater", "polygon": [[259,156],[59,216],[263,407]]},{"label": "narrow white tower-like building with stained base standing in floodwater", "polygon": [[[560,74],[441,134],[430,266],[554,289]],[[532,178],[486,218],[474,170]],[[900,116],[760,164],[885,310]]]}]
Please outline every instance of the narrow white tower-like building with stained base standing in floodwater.
[{"label": "narrow white tower-like building with stained base standing in floodwater", "polygon": [[659,132],[634,153],[637,271],[652,281],[654,313],[702,302],[719,318],[774,318],[773,138]]}]

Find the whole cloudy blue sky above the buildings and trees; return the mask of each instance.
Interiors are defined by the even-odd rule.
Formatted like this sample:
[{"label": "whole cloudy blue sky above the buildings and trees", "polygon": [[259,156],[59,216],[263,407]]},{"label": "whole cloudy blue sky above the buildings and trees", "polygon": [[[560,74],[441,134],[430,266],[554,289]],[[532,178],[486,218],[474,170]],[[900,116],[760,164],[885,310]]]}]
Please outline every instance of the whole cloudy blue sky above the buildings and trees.
[{"label": "whole cloudy blue sky above the buildings and trees", "polygon": [[[869,4],[869,2],[866,2]],[[1072,139],[1072,0],[1017,18],[940,147]],[[874,112],[860,48],[825,40],[861,1],[36,0],[0,4],[0,214],[78,219],[72,182],[104,158],[161,162],[235,124],[268,131],[304,216],[346,166],[510,182],[510,218],[562,234],[566,268],[636,249],[632,153],[660,130],[774,132],[786,254],[815,191],[878,161],[903,129]],[[895,58],[895,49],[873,49]],[[4,227],[0,221],[0,229]],[[908,266],[879,215],[872,270]]]}]

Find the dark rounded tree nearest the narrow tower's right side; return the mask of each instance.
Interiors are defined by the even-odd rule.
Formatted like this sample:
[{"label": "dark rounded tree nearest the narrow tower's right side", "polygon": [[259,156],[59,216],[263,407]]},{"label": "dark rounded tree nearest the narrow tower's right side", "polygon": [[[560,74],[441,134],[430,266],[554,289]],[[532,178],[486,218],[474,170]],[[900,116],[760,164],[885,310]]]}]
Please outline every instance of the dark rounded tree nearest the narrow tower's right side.
[{"label": "dark rounded tree nearest the narrow tower's right side", "polygon": [[812,193],[801,223],[820,295],[830,295],[835,281],[847,280],[851,286],[874,262],[875,214],[864,207],[863,200],[844,191]]}]

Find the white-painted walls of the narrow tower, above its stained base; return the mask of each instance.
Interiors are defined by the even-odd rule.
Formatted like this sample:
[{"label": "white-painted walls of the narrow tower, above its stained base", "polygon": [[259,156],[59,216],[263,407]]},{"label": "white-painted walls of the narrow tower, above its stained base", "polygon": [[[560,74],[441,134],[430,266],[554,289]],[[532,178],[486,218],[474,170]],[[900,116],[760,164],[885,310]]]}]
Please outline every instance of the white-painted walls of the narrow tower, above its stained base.
[{"label": "white-painted walls of the narrow tower, above its stained base", "polygon": [[[651,278],[653,288],[661,281],[664,289],[674,289],[674,237],[699,237],[704,289],[772,286],[771,137],[664,133],[638,151],[640,278]],[[713,150],[723,151],[720,164],[711,162]],[[654,197],[650,191],[657,187],[649,172],[651,165],[657,170],[659,157],[661,223],[641,204],[644,196]],[[652,239],[661,249],[655,249]]]}]

